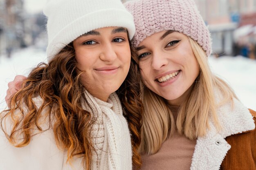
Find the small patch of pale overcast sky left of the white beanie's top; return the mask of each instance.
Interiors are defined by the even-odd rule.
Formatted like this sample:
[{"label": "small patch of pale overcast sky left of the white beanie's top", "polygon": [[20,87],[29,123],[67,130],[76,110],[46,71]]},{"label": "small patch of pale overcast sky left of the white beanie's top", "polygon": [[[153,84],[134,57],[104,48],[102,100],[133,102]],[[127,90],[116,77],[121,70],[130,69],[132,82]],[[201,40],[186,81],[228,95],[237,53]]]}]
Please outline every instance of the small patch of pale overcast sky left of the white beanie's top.
[{"label": "small patch of pale overcast sky left of the white beanie's top", "polygon": [[24,7],[29,13],[38,13],[43,11],[47,0],[24,0]]}]

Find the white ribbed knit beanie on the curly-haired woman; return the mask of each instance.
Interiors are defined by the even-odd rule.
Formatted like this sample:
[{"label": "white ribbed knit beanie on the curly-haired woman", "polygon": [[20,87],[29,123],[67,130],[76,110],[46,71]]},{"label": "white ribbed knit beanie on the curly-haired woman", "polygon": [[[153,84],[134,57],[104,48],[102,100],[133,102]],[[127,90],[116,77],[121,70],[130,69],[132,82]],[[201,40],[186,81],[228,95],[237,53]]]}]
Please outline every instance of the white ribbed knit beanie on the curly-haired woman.
[{"label": "white ribbed knit beanie on the curly-haired woman", "polygon": [[125,27],[130,39],[135,33],[133,16],[120,0],[48,0],[43,13],[48,18],[48,61],[67,44],[94,29]]}]

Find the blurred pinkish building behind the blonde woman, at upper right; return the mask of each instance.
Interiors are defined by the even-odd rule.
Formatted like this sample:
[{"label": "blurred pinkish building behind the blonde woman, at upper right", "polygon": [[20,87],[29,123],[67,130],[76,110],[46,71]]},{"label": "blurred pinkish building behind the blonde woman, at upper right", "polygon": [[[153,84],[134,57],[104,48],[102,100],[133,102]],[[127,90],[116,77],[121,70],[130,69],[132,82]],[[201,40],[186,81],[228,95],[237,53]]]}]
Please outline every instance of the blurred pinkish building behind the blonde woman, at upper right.
[{"label": "blurred pinkish building behind the blonde woman, at upper right", "polygon": [[[252,27],[256,26],[256,0],[195,0],[195,2],[206,24],[209,25],[213,39],[213,54],[249,55],[249,46],[254,46],[256,42],[253,45],[248,44],[245,35],[251,34],[253,29],[245,31],[240,28],[248,24]],[[245,53],[241,52],[244,47]]]}]

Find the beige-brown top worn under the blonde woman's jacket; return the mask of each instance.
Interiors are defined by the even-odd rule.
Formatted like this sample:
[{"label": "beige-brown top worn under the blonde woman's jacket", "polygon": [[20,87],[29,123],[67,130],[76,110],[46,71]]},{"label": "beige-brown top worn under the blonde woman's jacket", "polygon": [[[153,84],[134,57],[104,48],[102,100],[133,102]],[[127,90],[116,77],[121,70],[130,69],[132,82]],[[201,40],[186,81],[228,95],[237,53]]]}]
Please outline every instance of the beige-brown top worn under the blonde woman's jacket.
[{"label": "beige-brown top worn under the blonde woman's jacket", "polygon": [[[176,117],[179,106],[170,107]],[[195,144],[196,140],[191,141],[175,130],[157,153],[141,156],[141,170],[189,170]]]}]

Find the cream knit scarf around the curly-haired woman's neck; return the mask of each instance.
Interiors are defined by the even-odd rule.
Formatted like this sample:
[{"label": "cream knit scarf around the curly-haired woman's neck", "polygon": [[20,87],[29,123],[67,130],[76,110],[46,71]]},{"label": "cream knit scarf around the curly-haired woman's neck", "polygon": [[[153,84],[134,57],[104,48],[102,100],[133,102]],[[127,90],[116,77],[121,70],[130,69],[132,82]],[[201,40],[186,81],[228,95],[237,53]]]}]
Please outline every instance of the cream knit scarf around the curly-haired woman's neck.
[{"label": "cream knit scarf around the curly-haired woman's neck", "polygon": [[117,94],[112,93],[108,102],[93,97],[87,91],[85,96],[97,114],[91,132],[95,149],[91,169],[132,170],[130,132]]}]

